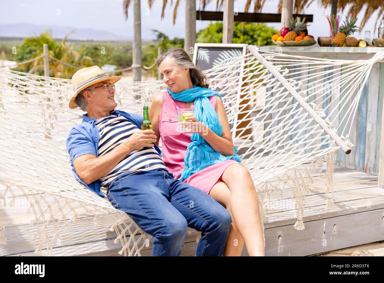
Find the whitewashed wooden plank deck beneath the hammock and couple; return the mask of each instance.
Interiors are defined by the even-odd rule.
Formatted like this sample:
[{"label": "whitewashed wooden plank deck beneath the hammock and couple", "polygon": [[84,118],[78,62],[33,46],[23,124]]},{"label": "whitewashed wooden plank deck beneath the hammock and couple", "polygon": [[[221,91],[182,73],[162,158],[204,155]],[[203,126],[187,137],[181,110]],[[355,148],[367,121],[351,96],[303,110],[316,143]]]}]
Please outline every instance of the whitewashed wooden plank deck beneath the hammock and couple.
[{"label": "whitewashed wooden plank deck beneath the hammock and couple", "polygon": [[[303,217],[305,230],[293,228],[296,210],[289,191],[283,199],[275,200],[272,207],[275,209],[270,210],[265,221],[266,255],[315,255],[384,240],[384,189],[377,187],[376,175],[335,166],[333,210],[325,210],[324,182],[325,179],[315,180],[309,188]],[[36,228],[29,224],[33,213],[3,209],[2,216],[7,245],[0,245],[0,255],[34,256]],[[61,244],[53,249],[53,255],[120,256],[121,245],[113,243],[116,233],[109,231],[109,221],[99,219],[99,226],[94,226],[93,221],[89,216],[71,223],[68,232],[62,235]],[[196,235],[188,235],[182,256],[194,256],[196,246]],[[142,256],[151,253],[152,243],[141,251]],[[242,255],[247,255],[246,247]]]}]

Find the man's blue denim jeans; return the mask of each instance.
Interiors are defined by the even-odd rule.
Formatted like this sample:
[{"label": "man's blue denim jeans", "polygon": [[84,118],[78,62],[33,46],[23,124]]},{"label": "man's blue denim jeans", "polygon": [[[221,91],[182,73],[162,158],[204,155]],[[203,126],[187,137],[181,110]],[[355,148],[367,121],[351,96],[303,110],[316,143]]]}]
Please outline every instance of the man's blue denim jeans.
[{"label": "man's blue denim jeans", "polygon": [[152,256],[179,256],[187,226],[202,231],[196,256],[222,256],[231,216],[220,203],[164,170],[134,171],[107,191],[114,208],[154,236]]}]

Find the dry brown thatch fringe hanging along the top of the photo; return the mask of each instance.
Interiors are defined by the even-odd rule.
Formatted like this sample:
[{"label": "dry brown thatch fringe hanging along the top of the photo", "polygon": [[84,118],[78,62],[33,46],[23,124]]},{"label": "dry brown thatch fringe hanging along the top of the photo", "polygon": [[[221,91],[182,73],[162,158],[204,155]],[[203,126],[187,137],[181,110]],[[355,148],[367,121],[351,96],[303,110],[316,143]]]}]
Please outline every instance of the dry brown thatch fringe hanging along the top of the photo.
[{"label": "dry brown thatch fringe hanging along the top of the photo", "polygon": [[[293,1],[293,13],[295,14],[301,14],[303,12],[303,9],[311,5],[315,0],[294,0]],[[131,4],[131,0],[123,0],[123,10],[126,18],[128,18],[128,8]],[[148,0],[149,8],[151,9],[152,4],[154,0]],[[166,8],[166,5],[169,1],[163,0],[163,6],[161,11],[161,18],[164,18],[164,11]],[[176,21],[176,15],[177,15],[177,7],[179,7],[180,0],[171,0],[170,5],[173,5],[173,2],[175,2],[175,7],[173,10],[173,24],[175,25]],[[205,7],[212,2],[212,0],[200,0],[200,9],[204,10]],[[248,12],[251,8],[251,5],[253,3],[253,13],[260,13],[264,4],[266,3],[266,0],[247,0],[244,7],[244,12]],[[324,8],[331,7],[332,0],[318,0],[319,4],[322,5]],[[216,11],[219,10],[223,6],[224,0],[216,0]],[[280,0],[278,5],[278,13],[281,13],[281,6],[282,6],[283,0]],[[347,10],[347,17],[353,16],[357,17],[357,14],[365,9],[364,17],[362,19],[360,28],[363,28],[366,24],[367,20],[372,16],[374,12],[377,10],[379,11],[379,14],[376,18],[377,21],[382,18],[384,14],[384,0],[338,0],[337,5],[337,11],[338,12],[344,12],[344,10]],[[376,29],[376,24],[374,29]]]}]

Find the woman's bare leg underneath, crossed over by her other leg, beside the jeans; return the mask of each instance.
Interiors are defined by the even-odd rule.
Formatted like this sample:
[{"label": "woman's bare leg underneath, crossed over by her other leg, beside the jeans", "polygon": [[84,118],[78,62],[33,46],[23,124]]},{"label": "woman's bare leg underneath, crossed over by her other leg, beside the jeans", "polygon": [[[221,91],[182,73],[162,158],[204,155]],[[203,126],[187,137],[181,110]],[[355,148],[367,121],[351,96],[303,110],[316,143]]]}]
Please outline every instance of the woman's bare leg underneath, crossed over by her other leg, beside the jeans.
[{"label": "woman's bare leg underneath, crossed over by her other leg, beside the jeans", "polygon": [[233,219],[230,202],[231,192],[229,188],[223,181],[218,180],[209,191],[209,195],[212,196],[215,201],[227,208],[232,218],[223,256],[240,256],[243,250],[244,240],[240,232],[237,230],[235,220]]}]

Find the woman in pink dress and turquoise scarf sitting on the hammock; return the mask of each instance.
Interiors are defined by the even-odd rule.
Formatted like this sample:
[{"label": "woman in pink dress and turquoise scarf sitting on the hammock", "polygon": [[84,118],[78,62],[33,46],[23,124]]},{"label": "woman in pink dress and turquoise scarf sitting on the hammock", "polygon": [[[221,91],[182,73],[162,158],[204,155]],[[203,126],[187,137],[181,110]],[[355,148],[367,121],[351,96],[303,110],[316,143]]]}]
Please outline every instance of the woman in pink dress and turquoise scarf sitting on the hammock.
[{"label": "woman in pink dress and turquoise scarf sitting on the hammock", "polygon": [[[174,178],[208,193],[232,217],[223,256],[264,256],[257,193],[250,173],[235,153],[227,115],[218,92],[181,48],[172,48],[156,61],[166,92],[150,109],[152,130],[162,140],[164,163]],[[179,130],[177,109],[192,108]]]}]

